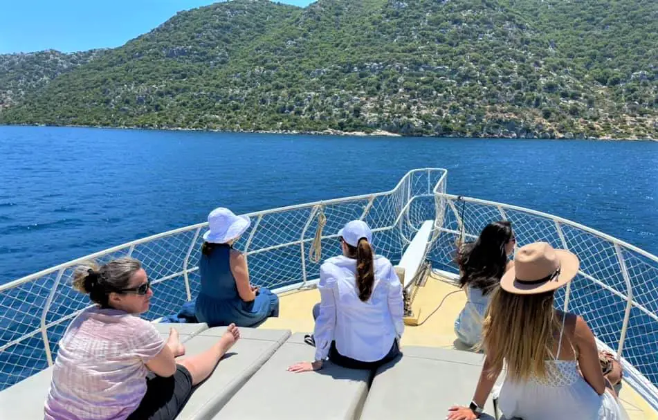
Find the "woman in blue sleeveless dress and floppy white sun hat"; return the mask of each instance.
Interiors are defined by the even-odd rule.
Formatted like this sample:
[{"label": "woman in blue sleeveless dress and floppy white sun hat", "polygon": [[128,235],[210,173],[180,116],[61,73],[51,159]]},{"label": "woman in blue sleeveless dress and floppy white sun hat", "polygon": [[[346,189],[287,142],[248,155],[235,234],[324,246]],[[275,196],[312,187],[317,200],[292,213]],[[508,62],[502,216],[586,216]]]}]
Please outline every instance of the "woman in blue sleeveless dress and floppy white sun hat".
[{"label": "woman in blue sleeveless dress and floppy white sun hat", "polygon": [[199,262],[201,291],[195,306],[199,322],[209,327],[230,323],[253,327],[270,316],[279,316],[278,296],[250,284],[246,259],[233,248],[249,228],[249,217],[220,207],[208,215],[208,226]]}]

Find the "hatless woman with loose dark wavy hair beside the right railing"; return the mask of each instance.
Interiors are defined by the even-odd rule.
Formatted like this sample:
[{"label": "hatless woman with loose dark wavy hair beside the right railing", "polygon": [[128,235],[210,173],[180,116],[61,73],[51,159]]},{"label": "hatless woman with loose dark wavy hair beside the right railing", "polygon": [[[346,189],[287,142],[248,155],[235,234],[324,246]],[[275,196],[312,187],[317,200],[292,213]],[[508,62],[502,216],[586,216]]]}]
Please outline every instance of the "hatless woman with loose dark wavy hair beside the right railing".
[{"label": "hatless woman with loose dark wavy hair beside the right railing", "polygon": [[516,239],[509,221],[489,223],[475,242],[464,244],[457,255],[459,286],[466,292],[466,305],[455,320],[455,334],[468,347],[482,338],[482,320],[502,275],[513,266],[508,257]]}]

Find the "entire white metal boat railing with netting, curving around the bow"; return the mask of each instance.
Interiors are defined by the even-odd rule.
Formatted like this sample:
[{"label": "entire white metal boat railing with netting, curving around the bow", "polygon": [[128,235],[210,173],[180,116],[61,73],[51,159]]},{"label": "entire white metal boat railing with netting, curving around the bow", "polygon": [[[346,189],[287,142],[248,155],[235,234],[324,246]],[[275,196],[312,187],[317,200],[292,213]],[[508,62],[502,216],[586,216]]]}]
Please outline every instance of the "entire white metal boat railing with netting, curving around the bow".
[{"label": "entire white metal boat railing with netting, curving around the bow", "polygon": [[[393,262],[423,222],[434,220],[428,259],[451,273],[457,273],[459,239],[475,239],[487,223],[509,220],[518,245],[548,241],[578,255],[578,276],[558,291],[556,304],[587,320],[599,343],[622,357],[627,381],[658,407],[658,257],[551,214],[446,194],[446,175],[412,170],[387,192],[250,213],[251,226],[235,246],[246,253],[255,284],[286,291],[318,279],[320,260],[339,252],[337,232],[351,219],[369,223],[376,252]],[[154,289],[143,316],[174,315],[199,291],[206,228],[199,223],[138,239],[1,285],[0,390],[51,365],[69,321],[89,307],[71,289],[78,264],[125,255],[140,259]]]}]

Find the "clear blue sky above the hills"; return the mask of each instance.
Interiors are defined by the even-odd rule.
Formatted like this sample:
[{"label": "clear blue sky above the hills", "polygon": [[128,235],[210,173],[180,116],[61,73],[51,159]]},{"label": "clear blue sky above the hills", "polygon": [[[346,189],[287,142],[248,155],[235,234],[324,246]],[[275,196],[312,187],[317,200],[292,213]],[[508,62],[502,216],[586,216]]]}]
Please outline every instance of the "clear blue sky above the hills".
[{"label": "clear blue sky above the hills", "polygon": [[[307,6],[311,0],[279,0]],[[0,0],[0,54],[112,48],[213,0]]]}]

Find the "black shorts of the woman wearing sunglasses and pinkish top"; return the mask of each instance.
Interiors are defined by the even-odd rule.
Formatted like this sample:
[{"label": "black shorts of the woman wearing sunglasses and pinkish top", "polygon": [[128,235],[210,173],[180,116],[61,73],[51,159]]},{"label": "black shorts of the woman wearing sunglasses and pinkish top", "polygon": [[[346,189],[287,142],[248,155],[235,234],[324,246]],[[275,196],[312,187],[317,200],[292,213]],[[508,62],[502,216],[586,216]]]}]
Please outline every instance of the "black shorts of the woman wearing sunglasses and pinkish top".
[{"label": "black shorts of the woman wearing sunglasses and pinkish top", "polygon": [[149,374],[146,394],[127,420],[174,420],[192,395],[192,375],[182,365],[168,378]]}]

